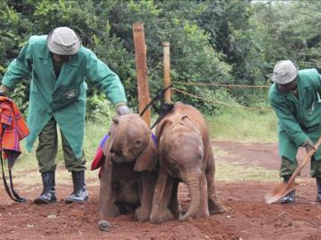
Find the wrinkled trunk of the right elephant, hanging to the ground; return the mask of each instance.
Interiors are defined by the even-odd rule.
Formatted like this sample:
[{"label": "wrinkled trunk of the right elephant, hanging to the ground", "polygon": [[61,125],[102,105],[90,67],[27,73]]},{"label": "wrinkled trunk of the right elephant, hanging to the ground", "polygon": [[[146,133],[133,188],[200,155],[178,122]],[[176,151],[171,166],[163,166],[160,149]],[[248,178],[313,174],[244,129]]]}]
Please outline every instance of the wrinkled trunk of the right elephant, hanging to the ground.
[{"label": "wrinkled trunk of the right elephant, hanging to the ground", "polygon": [[196,172],[188,172],[185,175],[185,184],[187,185],[191,196],[191,205],[188,208],[188,211],[179,218],[181,221],[187,220],[188,217],[195,215],[200,208],[200,186],[198,174]]}]

